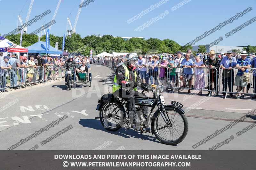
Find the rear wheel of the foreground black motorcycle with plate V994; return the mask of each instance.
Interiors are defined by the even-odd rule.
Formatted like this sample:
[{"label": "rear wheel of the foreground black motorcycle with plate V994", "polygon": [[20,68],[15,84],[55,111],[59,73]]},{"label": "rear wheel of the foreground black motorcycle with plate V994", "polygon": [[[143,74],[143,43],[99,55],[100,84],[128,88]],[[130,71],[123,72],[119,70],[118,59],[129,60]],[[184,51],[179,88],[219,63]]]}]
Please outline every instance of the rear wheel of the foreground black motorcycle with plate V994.
[{"label": "rear wheel of the foreground black motorcycle with plate V994", "polygon": [[116,131],[121,128],[120,123],[123,121],[124,108],[118,106],[119,104],[118,102],[111,102],[101,107],[100,122],[105,129]]}]

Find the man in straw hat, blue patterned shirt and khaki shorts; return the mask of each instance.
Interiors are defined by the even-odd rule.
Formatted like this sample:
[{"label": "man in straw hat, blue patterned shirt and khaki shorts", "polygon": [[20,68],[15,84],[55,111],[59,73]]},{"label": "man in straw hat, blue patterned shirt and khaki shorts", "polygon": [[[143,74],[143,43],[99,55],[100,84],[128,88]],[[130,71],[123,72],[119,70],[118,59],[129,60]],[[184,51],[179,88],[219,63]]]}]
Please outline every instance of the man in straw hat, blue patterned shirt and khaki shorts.
[{"label": "man in straw hat, blue patterned shirt and khaki shorts", "polygon": [[236,63],[236,68],[238,69],[235,81],[238,92],[236,99],[244,99],[244,93],[241,95],[240,91],[243,90],[242,92],[246,92],[246,86],[250,79],[248,69],[251,68],[251,59],[246,56],[247,54],[241,54],[241,58],[237,59]]}]

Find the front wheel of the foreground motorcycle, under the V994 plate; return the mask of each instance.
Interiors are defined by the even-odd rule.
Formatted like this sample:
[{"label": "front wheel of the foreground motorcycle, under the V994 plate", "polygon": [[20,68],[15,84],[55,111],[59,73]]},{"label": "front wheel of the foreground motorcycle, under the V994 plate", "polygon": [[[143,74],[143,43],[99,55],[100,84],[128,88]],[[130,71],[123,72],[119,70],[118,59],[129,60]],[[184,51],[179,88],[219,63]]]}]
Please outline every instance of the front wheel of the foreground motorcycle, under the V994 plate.
[{"label": "front wheel of the foreground motorcycle, under the V994 plate", "polygon": [[175,145],[182,142],[188,134],[188,120],[179,109],[175,107],[164,107],[172,126],[167,126],[159,110],[153,115],[151,129],[158,140],[164,144]]}]

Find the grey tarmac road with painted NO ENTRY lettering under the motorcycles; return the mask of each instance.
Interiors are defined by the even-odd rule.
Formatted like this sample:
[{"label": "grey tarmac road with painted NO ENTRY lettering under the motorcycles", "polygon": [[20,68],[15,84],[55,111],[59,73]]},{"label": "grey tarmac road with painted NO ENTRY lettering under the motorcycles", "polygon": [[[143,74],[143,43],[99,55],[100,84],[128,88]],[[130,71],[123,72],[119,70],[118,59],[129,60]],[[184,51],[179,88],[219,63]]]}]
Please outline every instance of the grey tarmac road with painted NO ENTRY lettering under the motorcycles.
[{"label": "grey tarmac road with painted NO ENTRY lettering under the motorcycles", "polygon": [[[255,106],[252,104],[255,101],[252,100],[212,98],[198,106],[202,109],[193,109],[188,112],[189,131],[184,141],[176,146],[165,145],[149,133],[139,134],[133,129],[125,130],[123,128],[115,132],[104,129],[100,120],[94,119],[99,116],[99,111],[95,109],[100,96],[111,92],[113,71],[105,66],[92,65],[91,72],[92,87],[80,86],[69,91],[64,85],[64,80],[57,80],[1,95],[0,149],[7,150],[21,139],[51,124],[52,121],[58,120],[63,115],[68,115],[68,118],[42,133],[38,132],[36,137],[20,144],[15,150],[29,150],[33,147],[36,150],[93,150],[99,146],[102,150],[194,150],[192,145],[213,134],[217,129],[220,130],[228,125],[230,121],[227,120],[237,119],[250,111],[225,110],[224,107],[229,103],[237,102],[238,105],[239,102],[246,102],[245,105],[249,106],[245,108],[252,110]],[[165,94],[166,103],[170,103],[173,99],[172,95],[175,94]],[[193,96],[191,99],[183,101],[184,95],[175,96],[174,99],[184,103],[184,107],[189,107],[200,97],[202,98],[202,96]],[[222,100],[222,104],[220,104],[220,100]],[[255,116],[246,120],[254,121]],[[236,135],[237,132],[251,124],[252,122],[239,122],[231,129],[227,129],[195,149],[208,150],[233,135],[234,139],[218,150],[255,150],[256,128],[246,131],[239,137]],[[52,140],[47,143],[43,142],[68,126],[69,129],[66,132],[62,131],[60,136],[51,138]]]}]

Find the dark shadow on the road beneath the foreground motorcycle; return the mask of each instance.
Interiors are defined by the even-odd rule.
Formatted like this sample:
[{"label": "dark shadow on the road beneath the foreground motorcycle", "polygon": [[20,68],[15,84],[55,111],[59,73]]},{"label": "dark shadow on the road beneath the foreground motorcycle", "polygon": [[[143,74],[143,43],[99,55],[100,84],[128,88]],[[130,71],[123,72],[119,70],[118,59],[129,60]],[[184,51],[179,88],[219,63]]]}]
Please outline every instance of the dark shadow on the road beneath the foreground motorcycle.
[{"label": "dark shadow on the road beneath the foreground motorcycle", "polygon": [[124,138],[134,137],[134,138],[138,138],[138,139],[140,138],[142,140],[149,140],[152,142],[162,144],[161,142],[157,141],[156,137],[148,136],[145,134],[139,134],[138,132],[134,131],[133,129],[125,130],[124,128],[121,128],[117,131],[108,131],[107,129],[103,128],[102,124],[100,123],[100,120],[96,120],[96,119],[80,119],[79,124],[81,124],[82,126],[87,127],[87,128],[102,130],[104,132],[122,136]]}]

